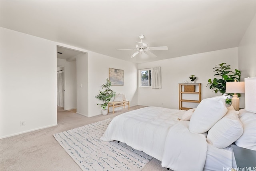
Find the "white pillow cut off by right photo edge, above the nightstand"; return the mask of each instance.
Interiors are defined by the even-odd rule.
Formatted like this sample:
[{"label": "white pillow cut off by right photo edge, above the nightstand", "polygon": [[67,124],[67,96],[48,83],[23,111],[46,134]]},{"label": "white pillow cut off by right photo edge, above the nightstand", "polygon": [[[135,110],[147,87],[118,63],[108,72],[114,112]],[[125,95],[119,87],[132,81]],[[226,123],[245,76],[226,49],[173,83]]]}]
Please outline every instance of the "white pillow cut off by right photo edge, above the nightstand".
[{"label": "white pillow cut off by right photo edge, above the nightstand", "polygon": [[256,150],[256,113],[243,113],[240,121],[244,125],[244,133],[236,140],[236,145]]}]

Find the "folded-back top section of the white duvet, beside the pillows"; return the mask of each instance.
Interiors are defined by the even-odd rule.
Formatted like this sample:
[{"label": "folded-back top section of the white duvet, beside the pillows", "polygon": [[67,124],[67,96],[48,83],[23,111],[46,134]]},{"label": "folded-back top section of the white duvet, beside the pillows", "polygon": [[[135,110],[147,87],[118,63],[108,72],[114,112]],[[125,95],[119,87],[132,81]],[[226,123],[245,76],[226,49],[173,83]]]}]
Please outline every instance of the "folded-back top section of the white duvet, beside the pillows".
[{"label": "folded-back top section of the white duvet, beside the pillows", "polygon": [[188,129],[189,121],[178,121],[169,131],[162,167],[174,171],[202,171],[207,153],[206,133],[194,134]]}]

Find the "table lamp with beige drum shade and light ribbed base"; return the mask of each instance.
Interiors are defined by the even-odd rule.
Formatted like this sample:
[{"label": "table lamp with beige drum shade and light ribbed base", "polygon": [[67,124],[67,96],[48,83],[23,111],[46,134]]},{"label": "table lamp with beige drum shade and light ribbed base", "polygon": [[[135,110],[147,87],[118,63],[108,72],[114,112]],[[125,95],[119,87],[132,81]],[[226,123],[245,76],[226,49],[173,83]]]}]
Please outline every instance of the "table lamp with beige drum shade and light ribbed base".
[{"label": "table lamp with beige drum shade and light ribbed base", "polygon": [[239,98],[236,93],[244,93],[244,82],[226,82],[226,93],[234,93],[231,103],[236,111],[239,110]]}]

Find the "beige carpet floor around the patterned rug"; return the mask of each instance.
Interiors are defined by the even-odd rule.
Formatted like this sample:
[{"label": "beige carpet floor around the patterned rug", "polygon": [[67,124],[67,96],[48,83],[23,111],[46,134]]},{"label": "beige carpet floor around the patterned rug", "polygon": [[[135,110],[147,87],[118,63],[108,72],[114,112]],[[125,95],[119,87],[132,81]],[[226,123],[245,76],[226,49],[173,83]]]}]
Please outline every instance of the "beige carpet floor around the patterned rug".
[{"label": "beige carpet floor around the patterned rug", "polygon": [[[141,107],[144,106],[130,107],[130,110]],[[54,139],[53,134],[114,117],[126,111],[127,108],[117,110],[115,114],[88,118],[58,107],[57,126],[0,139],[0,171],[81,171]],[[166,171],[166,168],[161,167],[161,162],[153,158],[142,171]]]}]

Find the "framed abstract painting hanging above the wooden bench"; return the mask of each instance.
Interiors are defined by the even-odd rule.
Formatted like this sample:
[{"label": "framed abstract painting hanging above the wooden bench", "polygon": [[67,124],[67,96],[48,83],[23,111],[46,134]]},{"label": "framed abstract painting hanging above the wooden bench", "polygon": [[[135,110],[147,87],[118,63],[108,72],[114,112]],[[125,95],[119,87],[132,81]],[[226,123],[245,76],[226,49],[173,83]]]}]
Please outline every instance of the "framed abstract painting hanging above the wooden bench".
[{"label": "framed abstract painting hanging above the wooden bench", "polygon": [[109,68],[109,81],[111,85],[124,85],[124,70]]}]

